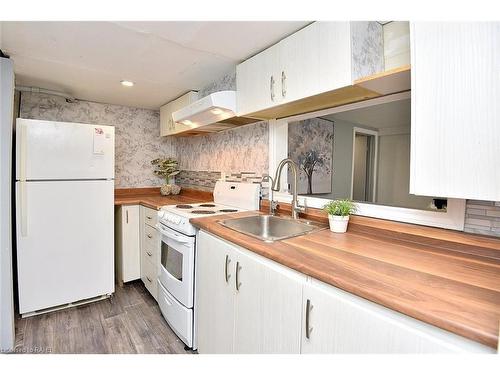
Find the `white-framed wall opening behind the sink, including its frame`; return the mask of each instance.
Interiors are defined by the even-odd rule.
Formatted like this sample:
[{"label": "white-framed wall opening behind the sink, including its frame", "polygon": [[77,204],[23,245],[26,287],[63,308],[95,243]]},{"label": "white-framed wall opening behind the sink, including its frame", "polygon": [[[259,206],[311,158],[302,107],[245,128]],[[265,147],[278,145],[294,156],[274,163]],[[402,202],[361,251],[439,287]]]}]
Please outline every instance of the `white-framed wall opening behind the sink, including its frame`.
[{"label": "white-framed wall opening behind the sink, including its frame", "polygon": [[[270,171],[289,157],[298,194],[310,207],[352,199],[366,216],[463,229],[465,201],[409,193],[410,93],[390,95],[271,123]],[[280,199],[288,200],[291,171]]]}]

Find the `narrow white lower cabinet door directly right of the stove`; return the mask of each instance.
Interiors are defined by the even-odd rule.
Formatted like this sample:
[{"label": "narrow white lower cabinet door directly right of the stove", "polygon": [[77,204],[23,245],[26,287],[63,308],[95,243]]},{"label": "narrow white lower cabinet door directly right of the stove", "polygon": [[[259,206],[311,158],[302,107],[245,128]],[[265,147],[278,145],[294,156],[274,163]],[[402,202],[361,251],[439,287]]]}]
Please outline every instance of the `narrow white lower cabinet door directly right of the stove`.
[{"label": "narrow white lower cabinet door directly right of the stove", "polygon": [[203,231],[196,246],[198,352],[229,354],[234,333],[234,248]]}]

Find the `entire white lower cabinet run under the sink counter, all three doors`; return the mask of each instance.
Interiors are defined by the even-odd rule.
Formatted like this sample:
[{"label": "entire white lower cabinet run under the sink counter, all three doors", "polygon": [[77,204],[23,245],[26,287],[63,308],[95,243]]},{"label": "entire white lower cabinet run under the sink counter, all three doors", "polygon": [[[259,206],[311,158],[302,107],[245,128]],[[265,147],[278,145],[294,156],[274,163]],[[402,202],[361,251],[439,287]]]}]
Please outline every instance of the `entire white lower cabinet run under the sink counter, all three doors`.
[{"label": "entire white lower cabinet run under the sink counter, all three doors", "polygon": [[492,353],[200,231],[200,353]]}]

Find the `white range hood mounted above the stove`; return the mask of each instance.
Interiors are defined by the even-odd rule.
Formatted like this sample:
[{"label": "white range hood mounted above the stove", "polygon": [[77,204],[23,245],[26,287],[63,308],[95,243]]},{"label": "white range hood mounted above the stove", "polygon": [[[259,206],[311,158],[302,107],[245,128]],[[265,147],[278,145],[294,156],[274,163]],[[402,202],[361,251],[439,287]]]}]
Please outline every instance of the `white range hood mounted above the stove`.
[{"label": "white range hood mounted above the stove", "polygon": [[172,113],[185,129],[178,135],[213,133],[259,120],[236,115],[236,91],[218,91]]}]

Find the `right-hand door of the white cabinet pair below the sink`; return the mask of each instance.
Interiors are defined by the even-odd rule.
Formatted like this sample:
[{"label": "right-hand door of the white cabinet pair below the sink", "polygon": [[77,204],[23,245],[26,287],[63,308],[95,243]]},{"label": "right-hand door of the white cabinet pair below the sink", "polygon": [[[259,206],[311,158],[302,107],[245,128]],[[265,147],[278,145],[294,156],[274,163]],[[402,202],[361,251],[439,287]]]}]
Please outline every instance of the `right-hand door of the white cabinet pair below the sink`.
[{"label": "right-hand door of the white cabinet pair below the sink", "polygon": [[[236,268],[238,267],[238,271]],[[306,277],[236,250],[234,353],[300,353],[302,284]]]}]

